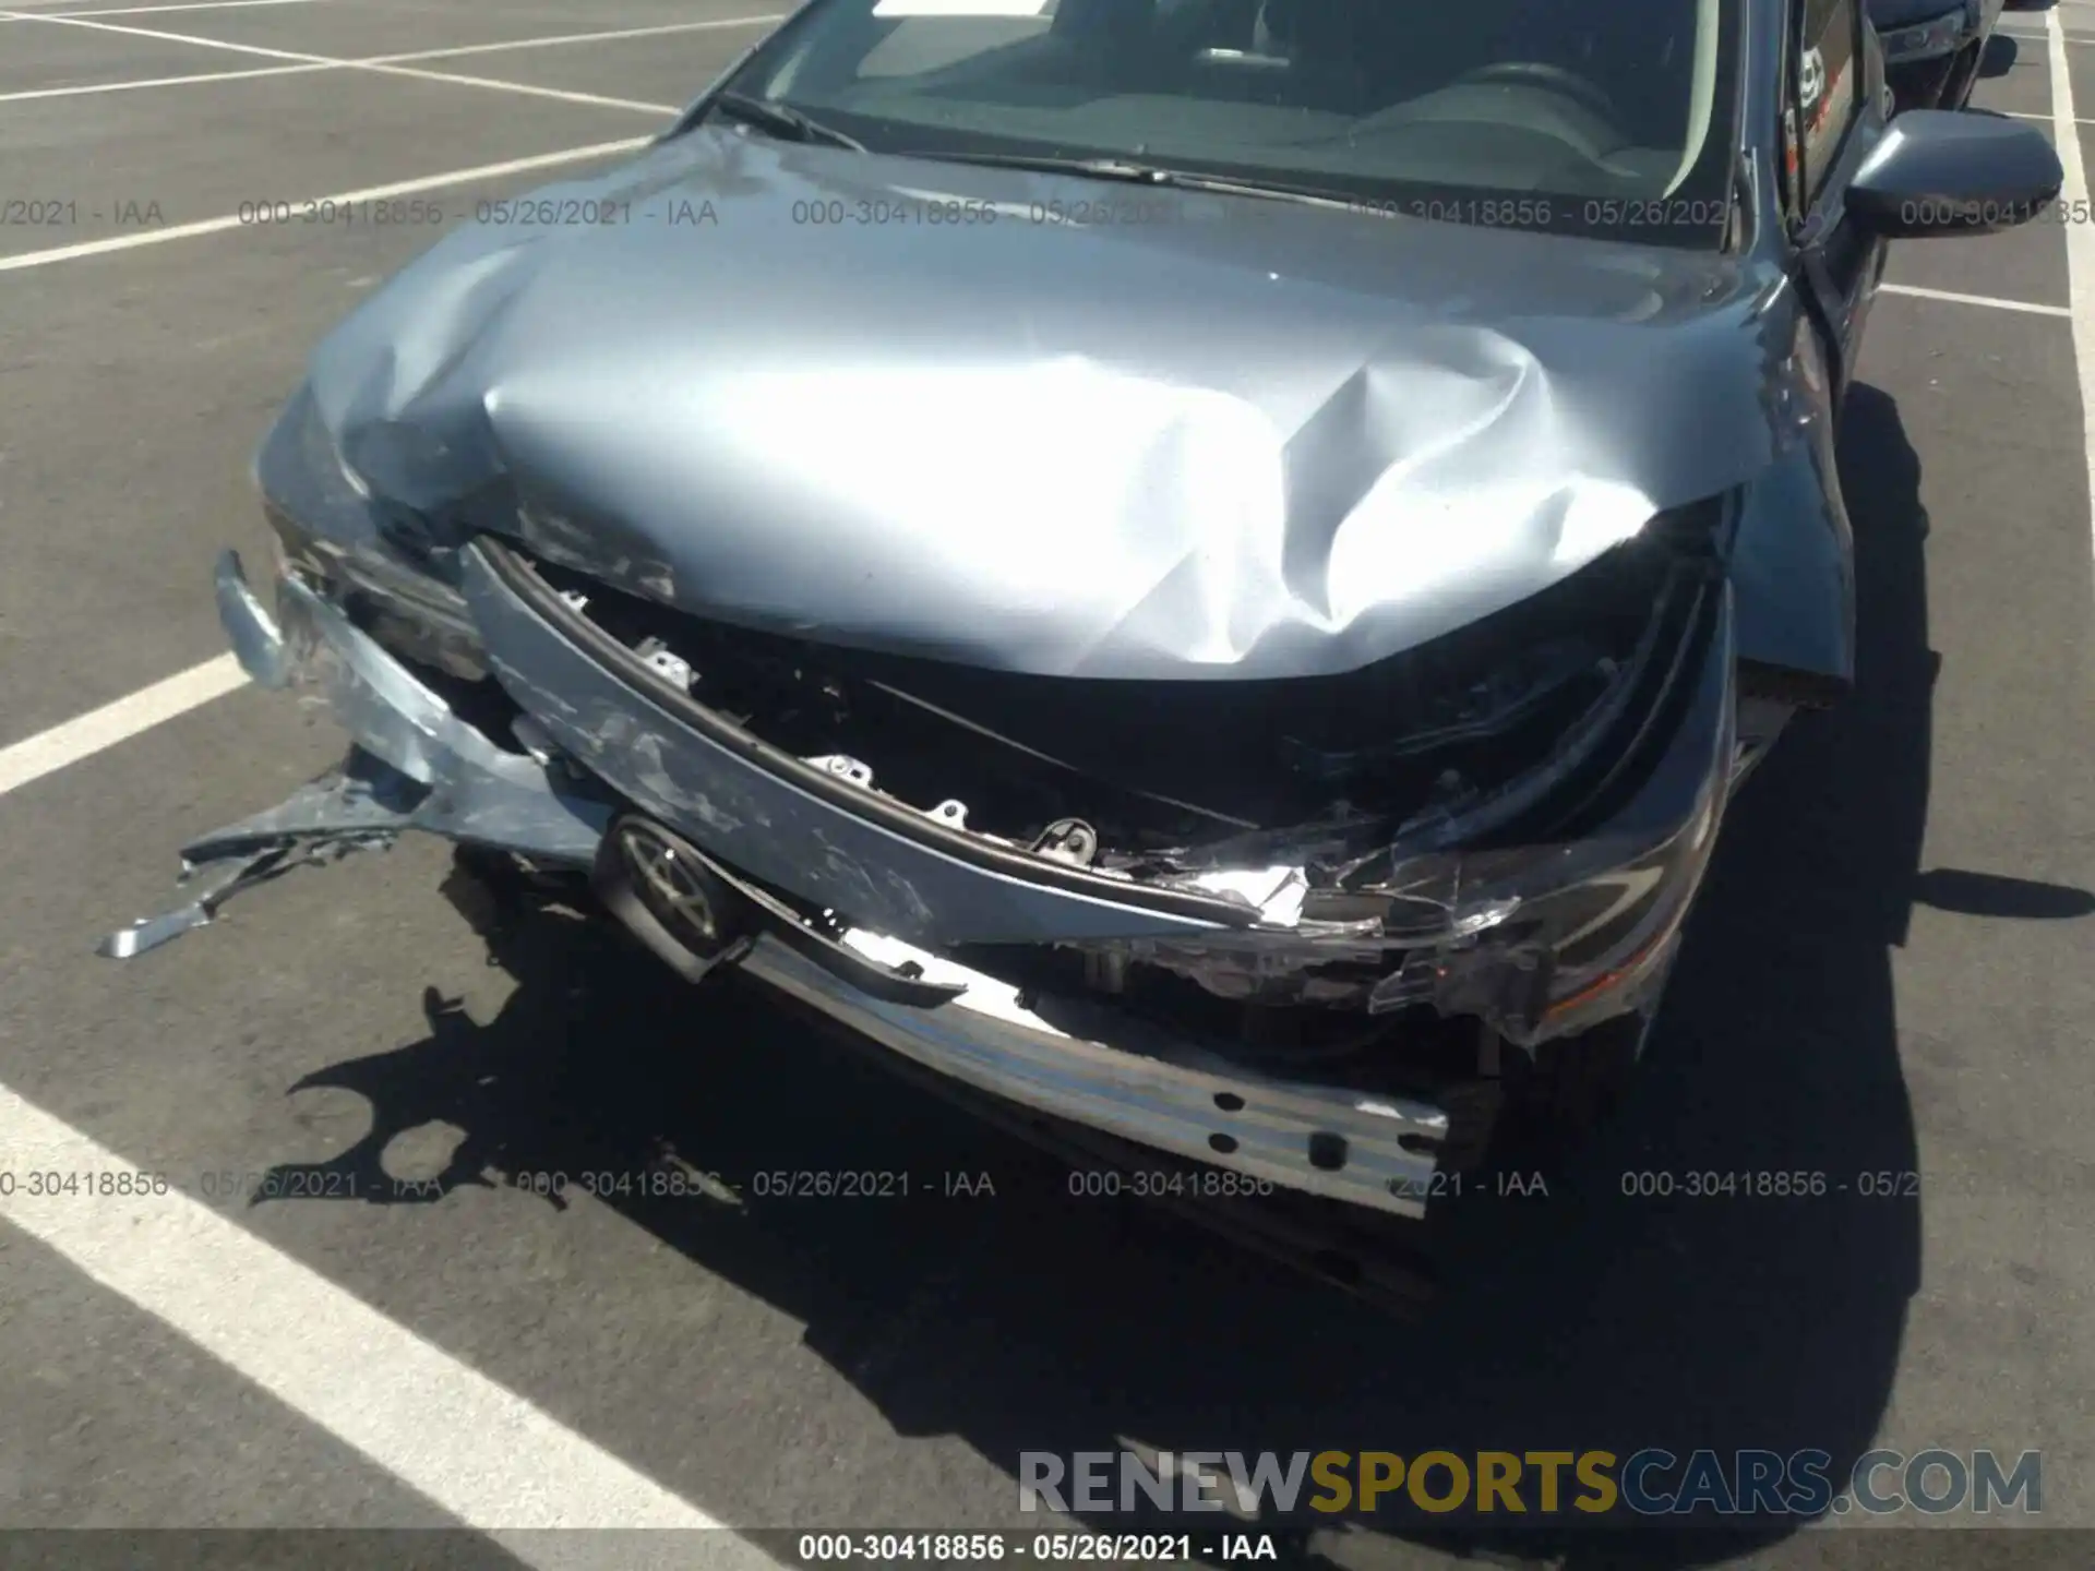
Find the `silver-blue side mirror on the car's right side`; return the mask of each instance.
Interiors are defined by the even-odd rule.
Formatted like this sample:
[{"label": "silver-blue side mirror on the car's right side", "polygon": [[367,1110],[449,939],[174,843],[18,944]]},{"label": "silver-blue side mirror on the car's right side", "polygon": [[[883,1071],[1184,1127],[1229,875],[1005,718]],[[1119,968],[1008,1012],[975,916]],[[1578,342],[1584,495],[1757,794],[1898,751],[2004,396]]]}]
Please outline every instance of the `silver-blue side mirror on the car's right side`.
[{"label": "silver-blue side mirror on the car's right side", "polygon": [[1992,235],[2041,214],[2066,172],[2034,126],[1967,109],[1898,115],[1848,182],[1846,205],[1888,241]]}]

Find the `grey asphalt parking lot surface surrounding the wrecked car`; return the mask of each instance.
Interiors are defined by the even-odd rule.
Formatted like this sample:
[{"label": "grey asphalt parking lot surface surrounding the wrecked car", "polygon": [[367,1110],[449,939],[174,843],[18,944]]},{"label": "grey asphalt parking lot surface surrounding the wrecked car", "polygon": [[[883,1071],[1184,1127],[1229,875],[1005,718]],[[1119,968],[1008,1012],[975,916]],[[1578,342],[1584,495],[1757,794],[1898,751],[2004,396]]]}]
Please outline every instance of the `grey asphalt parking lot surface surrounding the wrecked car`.
[{"label": "grey asphalt parking lot surface surrounding the wrecked car", "polygon": [[[2041,1452],[2015,1525],[2095,1527],[2085,180],[2078,228],[1896,247],[1842,438],[1858,691],[1735,804],[1622,1123],[1548,1196],[1452,1207],[1418,1324],[1077,1196],[752,987],[693,997],[612,934],[492,909],[438,846],[90,953],[168,903],[184,838],[339,752],[228,677],[210,595],[222,545],[264,555],[247,461],[308,348],[773,21],[0,8],[0,1183],[90,1173],[34,1217],[0,1198],[0,1565],[756,1565],[794,1558],[756,1529],[1033,1529],[1020,1454],[1115,1447]],[[1978,103],[2057,134],[2061,88],[2087,145],[2095,0],[2009,10]],[[306,220],[371,193],[423,218]],[[115,1171],[189,1202],[96,1192]],[[763,1192],[792,1171],[909,1192]],[[1626,1192],[1722,1171],[1850,1188]],[[1886,1525],[1942,1531],[1871,1563],[2095,1550]],[[31,1531],[67,1527],[189,1531]],[[1642,1535],[1636,1563],[1865,1563],[1850,1527]],[[1368,1519],[1293,1550],[1630,1554]]]}]

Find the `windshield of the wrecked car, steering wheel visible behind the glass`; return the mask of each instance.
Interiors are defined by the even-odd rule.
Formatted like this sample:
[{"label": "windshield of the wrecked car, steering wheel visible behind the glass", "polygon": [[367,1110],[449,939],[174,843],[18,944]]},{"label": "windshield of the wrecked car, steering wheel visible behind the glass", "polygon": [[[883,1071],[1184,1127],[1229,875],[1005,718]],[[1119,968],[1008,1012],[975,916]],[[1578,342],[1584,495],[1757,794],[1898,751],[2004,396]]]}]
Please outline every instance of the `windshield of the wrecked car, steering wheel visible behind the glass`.
[{"label": "windshield of the wrecked car, steering wheel visible behind the glass", "polygon": [[819,0],[737,73],[874,153],[1115,159],[1718,245],[1735,0]]}]

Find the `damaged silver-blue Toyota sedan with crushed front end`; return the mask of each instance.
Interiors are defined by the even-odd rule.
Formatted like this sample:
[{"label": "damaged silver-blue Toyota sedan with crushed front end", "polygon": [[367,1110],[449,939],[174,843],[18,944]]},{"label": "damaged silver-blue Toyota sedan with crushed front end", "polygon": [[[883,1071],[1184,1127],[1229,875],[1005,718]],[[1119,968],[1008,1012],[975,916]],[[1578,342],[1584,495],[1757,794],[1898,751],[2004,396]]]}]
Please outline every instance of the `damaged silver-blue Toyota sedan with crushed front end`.
[{"label": "damaged silver-blue Toyota sedan with crushed front end", "polygon": [[321,344],[218,599],[352,754],[105,949],[429,832],[1420,1215],[1607,1100],[1735,783],[1850,683],[1886,239],[2057,191],[1881,71],[1848,0],[813,0]]}]

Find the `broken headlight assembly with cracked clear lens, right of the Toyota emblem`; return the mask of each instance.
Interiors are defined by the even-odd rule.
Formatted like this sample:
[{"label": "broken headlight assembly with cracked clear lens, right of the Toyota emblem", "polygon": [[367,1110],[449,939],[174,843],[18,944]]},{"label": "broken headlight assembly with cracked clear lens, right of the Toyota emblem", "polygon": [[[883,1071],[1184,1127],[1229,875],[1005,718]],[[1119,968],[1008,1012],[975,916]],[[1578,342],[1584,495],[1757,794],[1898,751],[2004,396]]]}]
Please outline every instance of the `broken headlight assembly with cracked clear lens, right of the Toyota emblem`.
[{"label": "broken headlight assembly with cracked clear lens, right of the Toyota emblem", "polygon": [[[1624,683],[1529,775],[1469,813],[1267,836],[1265,855],[1301,861],[1265,869],[1291,878],[1259,928],[1091,947],[1091,970],[1117,974],[1096,959],[1110,953],[1255,1003],[1475,1016],[1527,1047],[1626,1014],[1663,980],[1716,844],[1730,660],[1728,591],[1686,561]],[[1372,834],[1387,842],[1358,855]]]}]

